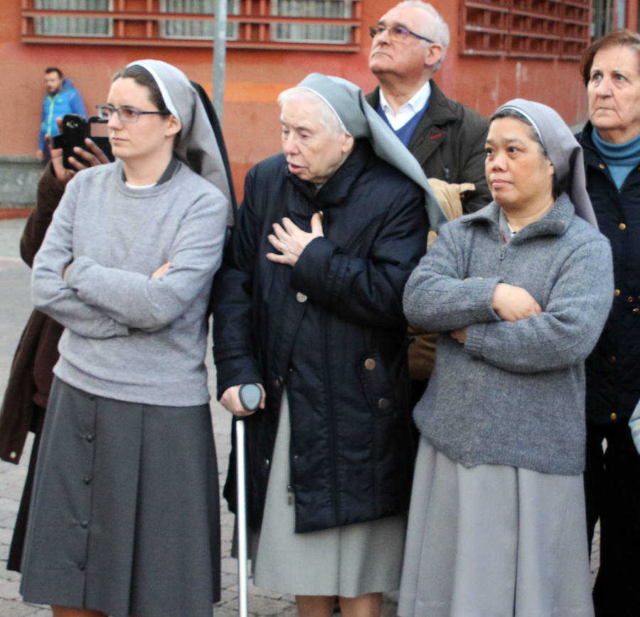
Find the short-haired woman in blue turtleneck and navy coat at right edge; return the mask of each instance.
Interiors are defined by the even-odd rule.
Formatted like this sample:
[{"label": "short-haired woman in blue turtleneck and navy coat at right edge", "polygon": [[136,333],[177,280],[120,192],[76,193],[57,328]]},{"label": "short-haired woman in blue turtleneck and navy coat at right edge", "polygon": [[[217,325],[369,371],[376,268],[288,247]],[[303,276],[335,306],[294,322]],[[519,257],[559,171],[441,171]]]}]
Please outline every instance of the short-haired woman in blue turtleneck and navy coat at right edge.
[{"label": "short-haired woman in blue turtleneck and navy coat at right edge", "polygon": [[614,259],[614,300],[587,358],[587,532],[600,523],[597,616],[640,606],[640,455],[627,422],[640,399],[640,34],[615,30],[582,54],[589,122],[577,136],[587,191]]}]

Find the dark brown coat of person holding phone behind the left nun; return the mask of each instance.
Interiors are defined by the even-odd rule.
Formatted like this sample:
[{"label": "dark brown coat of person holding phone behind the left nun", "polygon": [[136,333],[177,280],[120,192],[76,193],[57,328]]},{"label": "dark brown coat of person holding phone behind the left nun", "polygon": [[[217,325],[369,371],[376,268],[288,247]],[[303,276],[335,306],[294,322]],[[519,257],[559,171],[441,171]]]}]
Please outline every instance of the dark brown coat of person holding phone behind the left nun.
[{"label": "dark brown coat of person holding phone behind the left nun", "polygon": [[[20,242],[20,254],[28,266],[42,244],[63,192],[64,186],[53,175],[49,163],[38,181],[36,208],[26,222]],[[0,409],[0,458],[3,461],[20,461],[28,431],[36,424],[36,408],[44,409],[47,405],[62,332],[63,327],[44,313],[31,313],[16,349]]]}]

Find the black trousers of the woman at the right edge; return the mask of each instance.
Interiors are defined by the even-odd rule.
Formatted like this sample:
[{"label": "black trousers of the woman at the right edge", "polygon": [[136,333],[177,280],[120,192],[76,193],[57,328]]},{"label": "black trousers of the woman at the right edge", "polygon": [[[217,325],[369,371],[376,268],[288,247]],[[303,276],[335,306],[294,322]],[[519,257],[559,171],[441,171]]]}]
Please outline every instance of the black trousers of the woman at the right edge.
[{"label": "black trousers of the woman at the right edge", "polygon": [[593,589],[596,617],[638,617],[640,455],[626,422],[587,422],[585,498],[590,547],[600,520],[600,568]]}]

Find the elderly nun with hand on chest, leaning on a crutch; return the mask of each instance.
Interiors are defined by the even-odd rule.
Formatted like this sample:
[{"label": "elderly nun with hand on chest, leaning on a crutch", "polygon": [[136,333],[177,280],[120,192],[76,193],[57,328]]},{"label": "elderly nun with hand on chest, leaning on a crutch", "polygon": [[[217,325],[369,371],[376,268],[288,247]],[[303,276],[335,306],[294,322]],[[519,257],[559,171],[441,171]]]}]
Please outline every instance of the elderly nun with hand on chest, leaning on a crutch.
[{"label": "elderly nun with hand on chest, leaning on a crutch", "polygon": [[283,154],[248,173],[215,281],[218,392],[245,417],[255,584],[303,616],[338,596],[374,617],[399,586],[414,461],[402,289],[444,215],[356,86],[309,75],[279,104]]}]

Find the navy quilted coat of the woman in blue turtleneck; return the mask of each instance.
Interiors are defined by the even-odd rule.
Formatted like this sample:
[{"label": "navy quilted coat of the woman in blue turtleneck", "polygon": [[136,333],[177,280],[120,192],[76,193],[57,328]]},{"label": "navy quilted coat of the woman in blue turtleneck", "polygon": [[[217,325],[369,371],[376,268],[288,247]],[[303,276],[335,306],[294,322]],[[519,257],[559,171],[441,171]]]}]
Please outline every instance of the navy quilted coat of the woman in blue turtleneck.
[{"label": "navy quilted coat of the woman in blue turtleneck", "polygon": [[587,122],[577,139],[598,226],[611,242],[615,291],[602,336],[587,358],[587,420],[626,424],[640,399],[640,168],[618,190],[592,129]]}]

